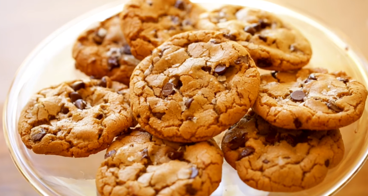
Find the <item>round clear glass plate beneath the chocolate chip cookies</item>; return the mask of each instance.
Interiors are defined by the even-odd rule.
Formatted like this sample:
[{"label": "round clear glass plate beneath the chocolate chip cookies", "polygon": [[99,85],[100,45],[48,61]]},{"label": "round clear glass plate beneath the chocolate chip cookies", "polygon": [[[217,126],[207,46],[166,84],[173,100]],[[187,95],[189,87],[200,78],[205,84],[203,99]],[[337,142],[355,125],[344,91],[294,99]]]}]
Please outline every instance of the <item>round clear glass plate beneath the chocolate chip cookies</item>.
[{"label": "round clear glass plate beneath the chocolate chip cookies", "polygon": [[[194,0],[208,9],[219,6],[216,0]],[[17,130],[17,121],[30,96],[42,88],[76,78],[86,78],[75,70],[72,46],[78,35],[96,21],[120,12],[126,0],[120,0],[64,25],[44,40],[26,58],[15,76],[4,107],[4,134],[12,159],[35,190],[44,196],[96,196],[95,174],[105,151],[88,158],[67,158],[39,155],[28,150]],[[217,0],[217,2],[220,2]],[[368,86],[367,63],[351,46],[342,41],[325,25],[288,8],[262,0],[227,0],[229,4],[256,7],[277,14],[296,26],[310,40],[313,58],[308,66],[343,70]],[[367,112],[356,123],[341,129],[345,156],[330,170],[324,181],[312,189],[297,193],[267,193],[244,184],[237,172],[226,162],[219,188],[212,196],[327,196],[336,193],[364,164],[368,153]]]}]

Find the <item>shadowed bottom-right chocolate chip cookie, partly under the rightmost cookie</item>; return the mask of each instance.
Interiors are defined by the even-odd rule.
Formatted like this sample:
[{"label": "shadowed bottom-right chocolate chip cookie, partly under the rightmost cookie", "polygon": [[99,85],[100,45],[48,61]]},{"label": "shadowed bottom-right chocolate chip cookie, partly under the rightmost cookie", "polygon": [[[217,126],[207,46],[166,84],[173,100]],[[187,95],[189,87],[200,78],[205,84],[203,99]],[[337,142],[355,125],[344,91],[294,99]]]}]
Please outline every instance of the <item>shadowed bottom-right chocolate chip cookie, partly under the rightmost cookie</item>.
[{"label": "shadowed bottom-right chocolate chip cookie, partly under the rightmost cookie", "polygon": [[344,154],[339,129],[278,128],[251,111],[225,133],[221,148],[242,181],[268,192],[314,187]]}]

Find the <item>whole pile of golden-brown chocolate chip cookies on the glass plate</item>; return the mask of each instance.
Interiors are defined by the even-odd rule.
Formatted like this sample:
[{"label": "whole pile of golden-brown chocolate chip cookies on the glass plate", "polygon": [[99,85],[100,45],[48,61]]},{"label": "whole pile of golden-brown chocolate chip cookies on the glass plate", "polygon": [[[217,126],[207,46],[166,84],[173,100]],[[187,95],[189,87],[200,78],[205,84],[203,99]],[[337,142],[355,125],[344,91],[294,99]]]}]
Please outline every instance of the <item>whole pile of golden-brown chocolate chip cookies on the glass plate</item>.
[{"label": "whole pile of golden-brown chocolate chip cookies on the glass plate", "polygon": [[346,73],[303,68],[311,56],[297,29],[263,10],[131,0],[79,36],[76,68],[91,79],[38,92],[18,130],[39,154],[107,148],[102,196],[210,196],[223,158],[253,188],[305,190],[342,160],[339,128],[367,98]]}]

